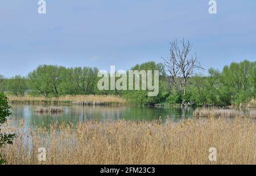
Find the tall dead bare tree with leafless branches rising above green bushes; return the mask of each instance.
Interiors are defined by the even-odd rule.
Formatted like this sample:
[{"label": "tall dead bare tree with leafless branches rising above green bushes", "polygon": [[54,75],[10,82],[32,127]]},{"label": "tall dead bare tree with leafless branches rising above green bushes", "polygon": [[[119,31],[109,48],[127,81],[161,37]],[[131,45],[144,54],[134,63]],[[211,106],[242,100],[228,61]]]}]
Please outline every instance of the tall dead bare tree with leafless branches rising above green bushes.
[{"label": "tall dead bare tree with leafless branches rising above green bushes", "polygon": [[189,78],[194,74],[197,68],[202,68],[196,54],[192,55],[192,45],[189,40],[184,39],[179,46],[177,40],[170,42],[170,53],[167,58],[163,58],[166,66],[166,73],[170,78],[170,84],[173,84],[177,92],[186,95],[186,88],[189,84]]}]

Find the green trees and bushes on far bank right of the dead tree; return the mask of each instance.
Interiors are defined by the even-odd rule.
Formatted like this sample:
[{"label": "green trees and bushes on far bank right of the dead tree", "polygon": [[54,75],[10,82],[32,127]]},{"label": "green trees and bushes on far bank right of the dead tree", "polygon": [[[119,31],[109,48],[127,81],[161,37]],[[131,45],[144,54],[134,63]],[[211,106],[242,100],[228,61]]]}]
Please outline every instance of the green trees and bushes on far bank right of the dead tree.
[{"label": "green trees and bushes on far bank right of the dead tree", "polygon": [[196,74],[187,87],[187,95],[172,91],[167,102],[189,102],[196,106],[244,104],[255,98],[256,62],[243,61],[225,66],[222,72],[210,68],[208,76]]}]

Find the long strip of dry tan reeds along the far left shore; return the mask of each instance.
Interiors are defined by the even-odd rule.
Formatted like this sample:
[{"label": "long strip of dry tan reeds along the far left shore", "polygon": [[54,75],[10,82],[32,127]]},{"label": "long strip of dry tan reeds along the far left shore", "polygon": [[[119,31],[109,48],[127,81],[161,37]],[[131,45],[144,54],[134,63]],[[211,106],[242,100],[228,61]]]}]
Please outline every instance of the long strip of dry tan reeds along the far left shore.
[{"label": "long strip of dry tan reeds along the far left shore", "polygon": [[43,96],[8,96],[9,101],[12,103],[22,103],[22,104],[72,104],[77,102],[97,102],[100,103],[115,103],[115,104],[125,104],[126,101],[121,97],[117,96],[104,96],[104,95],[66,95],[60,96],[59,98],[46,98]]}]

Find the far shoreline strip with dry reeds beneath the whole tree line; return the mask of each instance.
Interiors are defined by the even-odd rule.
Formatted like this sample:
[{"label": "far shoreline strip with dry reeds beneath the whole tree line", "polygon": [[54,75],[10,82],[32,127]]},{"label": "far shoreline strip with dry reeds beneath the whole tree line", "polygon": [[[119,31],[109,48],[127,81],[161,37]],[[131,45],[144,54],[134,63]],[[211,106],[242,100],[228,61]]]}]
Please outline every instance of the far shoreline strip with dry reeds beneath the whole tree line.
[{"label": "far shoreline strip with dry reeds beneath the whole tree line", "polygon": [[10,104],[25,104],[25,105],[81,105],[81,106],[112,106],[112,105],[129,105],[141,107],[155,107],[155,108],[217,108],[217,109],[242,109],[242,108],[256,108],[256,101],[243,103],[240,105],[216,106],[216,105],[202,105],[195,106],[193,104],[168,104],[167,102],[154,105],[133,105],[126,101],[123,97],[113,95],[66,95],[59,98],[46,98],[43,96],[8,96]]}]

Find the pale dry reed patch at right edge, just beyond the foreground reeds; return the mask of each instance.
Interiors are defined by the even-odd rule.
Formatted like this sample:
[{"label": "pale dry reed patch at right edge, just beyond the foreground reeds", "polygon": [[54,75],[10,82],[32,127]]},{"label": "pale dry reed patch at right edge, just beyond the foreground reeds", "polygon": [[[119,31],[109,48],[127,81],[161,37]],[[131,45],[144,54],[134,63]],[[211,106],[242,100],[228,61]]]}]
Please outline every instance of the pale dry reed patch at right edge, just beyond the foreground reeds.
[{"label": "pale dry reed patch at right edge, just beyond the foreground reeds", "polygon": [[249,118],[256,118],[256,110],[234,110],[234,109],[196,109],[193,111],[194,117],[228,117],[228,118],[235,118],[235,117],[249,117]]}]

